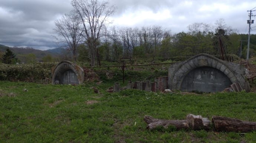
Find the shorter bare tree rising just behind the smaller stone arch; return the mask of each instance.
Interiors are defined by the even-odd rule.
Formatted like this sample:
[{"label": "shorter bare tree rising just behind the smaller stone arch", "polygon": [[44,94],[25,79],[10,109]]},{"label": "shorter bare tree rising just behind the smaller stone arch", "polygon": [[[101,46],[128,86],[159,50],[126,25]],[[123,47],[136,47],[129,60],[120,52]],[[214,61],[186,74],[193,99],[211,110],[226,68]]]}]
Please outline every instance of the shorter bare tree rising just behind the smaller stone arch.
[{"label": "shorter bare tree rising just behind the smaller stone arch", "polygon": [[56,39],[72,52],[73,60],[76,61],[78,53],[77,48],[83,42],[81,21],[78,15],[76,15],[74,11],[65,14],[62,18],[55,21],[54,31],[62,36],[62,38]]}]

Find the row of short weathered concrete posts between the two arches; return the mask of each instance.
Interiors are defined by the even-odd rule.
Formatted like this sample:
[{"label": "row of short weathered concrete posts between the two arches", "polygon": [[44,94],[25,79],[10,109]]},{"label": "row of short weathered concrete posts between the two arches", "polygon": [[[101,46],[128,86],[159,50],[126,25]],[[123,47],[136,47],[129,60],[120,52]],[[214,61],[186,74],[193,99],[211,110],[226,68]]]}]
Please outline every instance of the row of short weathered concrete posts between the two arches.
[{"label": "row of short weathered concrete posts between the two arches", "polygon": [[[154,82],[147,80],[145,82],[135,81],[132,83],[131,81],[127,84],[127,89],[137,89],[137,90],[145,90],[145,91],[164,91],[168,88],[168,77],[158,77],[155,78]],[[121,90],[120,84],[115,83],[114,92],[119,92]]]}]

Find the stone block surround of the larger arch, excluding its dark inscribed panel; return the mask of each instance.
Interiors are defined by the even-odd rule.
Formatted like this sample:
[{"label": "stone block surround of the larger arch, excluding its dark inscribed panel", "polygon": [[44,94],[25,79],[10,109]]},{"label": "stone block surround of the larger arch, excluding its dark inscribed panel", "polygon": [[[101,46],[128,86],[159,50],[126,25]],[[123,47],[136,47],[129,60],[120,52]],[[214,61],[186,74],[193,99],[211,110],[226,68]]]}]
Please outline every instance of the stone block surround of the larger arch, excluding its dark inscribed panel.
[{"label": "stone block surround of the larger arch, excluding its dark inscribed panel", "polygon": [[[184,77],[192,70],[200,67],[210,67],[224,73],[231,83],[240,83],[244,89],[246,80],[244,79],[245,68],[239,64],[226,62],[211,55],[202,53],[190,59],[173,64],[168,71],[168,86],[171,90],[181,90]],[[197,71],[198,72],[198,71]],[[196,82],[197,81],[193,81]],[[207,83],[208,84],[208,83]],[[204,86],[204,85],[201,85]],[[196,89],[195,89],[196,90]]]}]

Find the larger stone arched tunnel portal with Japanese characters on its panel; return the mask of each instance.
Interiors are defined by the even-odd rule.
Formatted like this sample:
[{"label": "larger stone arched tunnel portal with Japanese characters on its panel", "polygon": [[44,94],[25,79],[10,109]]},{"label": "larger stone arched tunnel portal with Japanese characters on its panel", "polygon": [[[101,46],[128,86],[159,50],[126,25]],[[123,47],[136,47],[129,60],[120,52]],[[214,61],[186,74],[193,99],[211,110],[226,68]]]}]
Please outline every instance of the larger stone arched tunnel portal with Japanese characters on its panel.
[{"label": "larger stone arched tunnel portal with Japanese characters on its panel", "polygon": [[218,92],[238,83],[245,89],[248,83],[244,75],[243,66],[202,53],[173,64],[168,71],[168,86],[171,90]]}]

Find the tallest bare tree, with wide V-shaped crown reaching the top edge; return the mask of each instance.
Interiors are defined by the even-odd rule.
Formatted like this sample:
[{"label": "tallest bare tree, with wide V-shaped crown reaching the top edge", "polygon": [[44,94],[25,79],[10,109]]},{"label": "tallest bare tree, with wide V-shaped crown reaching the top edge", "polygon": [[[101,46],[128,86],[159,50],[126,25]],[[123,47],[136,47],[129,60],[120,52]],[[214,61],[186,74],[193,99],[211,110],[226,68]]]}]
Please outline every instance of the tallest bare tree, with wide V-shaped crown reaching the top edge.
[{"label": "tallest bare tree, with wide V-shaped crown reaching the top edge", "polygon": [[95,65],[101,29],[106,24],[107,18],[115,11],[115,7],[108,4],[98,0],[72,0],[72,5],[83,24],[83,36],[89,49],[91,66]]}]

